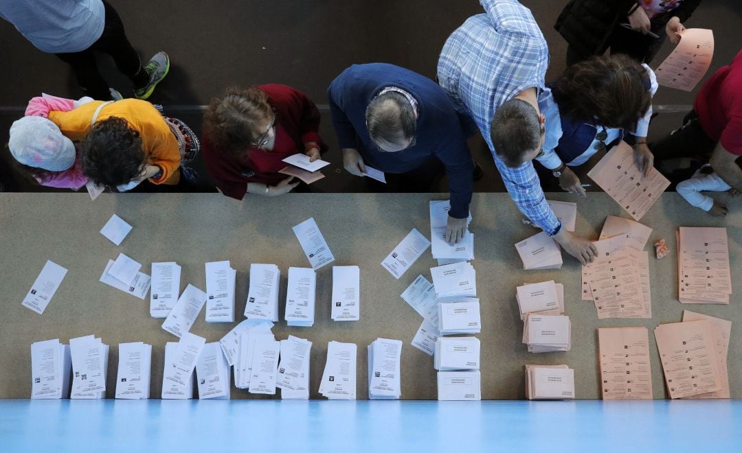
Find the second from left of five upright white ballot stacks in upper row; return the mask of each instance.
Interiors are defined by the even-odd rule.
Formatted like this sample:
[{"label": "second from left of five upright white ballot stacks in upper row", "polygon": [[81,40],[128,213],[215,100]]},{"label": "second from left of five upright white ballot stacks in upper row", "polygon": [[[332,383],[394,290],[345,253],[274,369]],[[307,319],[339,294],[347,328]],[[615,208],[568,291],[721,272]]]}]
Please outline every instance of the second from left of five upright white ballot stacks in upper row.
[{"label": "second from left of five upright white ballot stacks in upper row", "polygon": [[229,261],[206,263],[206,322],[234,323],[234,279]]}]

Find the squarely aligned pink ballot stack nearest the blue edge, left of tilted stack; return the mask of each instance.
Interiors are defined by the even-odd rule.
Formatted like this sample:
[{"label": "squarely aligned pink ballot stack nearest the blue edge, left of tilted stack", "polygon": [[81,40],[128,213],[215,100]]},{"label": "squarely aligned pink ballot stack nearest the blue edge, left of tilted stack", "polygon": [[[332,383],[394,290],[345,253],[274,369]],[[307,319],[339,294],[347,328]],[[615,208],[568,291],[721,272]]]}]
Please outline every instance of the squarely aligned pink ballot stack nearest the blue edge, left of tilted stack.
[{"label": "squarely aligned pink ballot stack nearest the blue edge, left of tilted stack", "polygon": [[651,400],[649,332],[646,327],[598,329],[603,400]]}]

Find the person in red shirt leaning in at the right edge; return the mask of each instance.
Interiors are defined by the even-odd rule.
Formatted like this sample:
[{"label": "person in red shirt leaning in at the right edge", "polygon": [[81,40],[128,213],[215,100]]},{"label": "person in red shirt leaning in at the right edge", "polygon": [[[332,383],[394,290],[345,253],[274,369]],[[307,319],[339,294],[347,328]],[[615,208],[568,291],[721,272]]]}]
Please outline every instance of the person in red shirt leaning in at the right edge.
[{"label": "person in red shirt leaning in at the right edge", "polygon": [[714,171],[742,191],[742,51],[703,84],[683,126],[649,148],[660,170],[663,159],[710,154]]}]

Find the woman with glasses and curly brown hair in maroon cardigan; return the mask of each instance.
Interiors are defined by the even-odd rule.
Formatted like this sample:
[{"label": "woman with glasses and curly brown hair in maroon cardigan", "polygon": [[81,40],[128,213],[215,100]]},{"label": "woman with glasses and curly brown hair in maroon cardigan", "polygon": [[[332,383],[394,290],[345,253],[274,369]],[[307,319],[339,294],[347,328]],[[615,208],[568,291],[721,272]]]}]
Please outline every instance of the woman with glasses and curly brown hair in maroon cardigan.
[{"label": "woman with glasses and curly brown hair in maroon cardigan", "polygon": [[278,196],[298,180],[278,171],[282,159],[326,151],[320,113],[301,91],[286,85],[229,88],[206,110],[201,151],[211,178],[226,196]]}]

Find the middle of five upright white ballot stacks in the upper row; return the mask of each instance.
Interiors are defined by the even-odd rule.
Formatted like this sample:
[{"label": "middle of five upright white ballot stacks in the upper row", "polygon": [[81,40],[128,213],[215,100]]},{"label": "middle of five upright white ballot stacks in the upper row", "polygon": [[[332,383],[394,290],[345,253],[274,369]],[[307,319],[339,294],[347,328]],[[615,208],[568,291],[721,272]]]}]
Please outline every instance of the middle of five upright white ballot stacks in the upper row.
[{"label": "middle of five upright white ballot stacks in the upper row", "polygon": [[278,282],[280,269],[275,264],[251,264],[250,288],[245,316],[278,322]]}]

